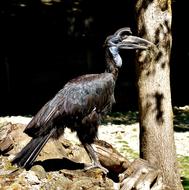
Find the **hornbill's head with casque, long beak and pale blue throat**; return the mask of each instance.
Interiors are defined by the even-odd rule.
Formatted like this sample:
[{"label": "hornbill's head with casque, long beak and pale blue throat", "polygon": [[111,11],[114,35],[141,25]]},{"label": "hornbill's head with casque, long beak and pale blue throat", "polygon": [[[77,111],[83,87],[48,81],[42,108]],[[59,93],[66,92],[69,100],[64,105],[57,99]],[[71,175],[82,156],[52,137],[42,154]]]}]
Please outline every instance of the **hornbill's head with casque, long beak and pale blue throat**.
[{"label": "hornbill's head with casque, long beak and pale blue throat", "polygon": [[121,67],[122,59],[119,55],[120,49],[141,49],[145,50],[154,44],[143,38],[133,36],[130,28],[125,27],[117,30],[113,35],[108,36],[104,46],[108,48],[117,67]]}]

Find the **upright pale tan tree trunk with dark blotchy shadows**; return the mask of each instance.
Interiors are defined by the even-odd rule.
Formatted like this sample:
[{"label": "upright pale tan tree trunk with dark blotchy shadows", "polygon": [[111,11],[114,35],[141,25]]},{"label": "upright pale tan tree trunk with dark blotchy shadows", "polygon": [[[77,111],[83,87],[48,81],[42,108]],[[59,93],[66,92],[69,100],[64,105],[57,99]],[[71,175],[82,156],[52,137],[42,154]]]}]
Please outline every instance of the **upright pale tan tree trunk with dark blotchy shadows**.
[{"label": "upright pale tan tree trunk with dark blotchy shadows", "polygon": [[176,161],[170,90],[171,0],[138,0],[138,35],[156,47],[138,53],[140,154],[163,173],[164,189],[183,189]]}]

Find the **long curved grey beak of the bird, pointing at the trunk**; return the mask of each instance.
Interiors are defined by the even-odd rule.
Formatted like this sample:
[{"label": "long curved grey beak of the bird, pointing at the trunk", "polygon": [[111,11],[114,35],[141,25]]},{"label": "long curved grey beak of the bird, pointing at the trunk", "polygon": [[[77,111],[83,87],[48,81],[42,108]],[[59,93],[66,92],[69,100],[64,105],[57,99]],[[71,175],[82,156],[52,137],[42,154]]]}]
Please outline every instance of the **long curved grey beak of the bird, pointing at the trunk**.
[{"label": "long curved grey beak of the bird, pointing at the trunk", "polygon": [[123,37],[122,42],[119,42],[117,45],[119,49],[148,49],[155,46],[148,40],[132,35]]}]

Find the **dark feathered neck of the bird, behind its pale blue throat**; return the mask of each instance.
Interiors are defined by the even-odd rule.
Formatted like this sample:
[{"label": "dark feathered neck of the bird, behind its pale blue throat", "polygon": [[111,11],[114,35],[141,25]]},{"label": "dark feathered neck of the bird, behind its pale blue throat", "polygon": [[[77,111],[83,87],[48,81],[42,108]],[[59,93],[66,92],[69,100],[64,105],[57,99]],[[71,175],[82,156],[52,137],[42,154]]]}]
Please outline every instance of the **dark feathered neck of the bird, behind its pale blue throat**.
[{"label": "dark feathered neck of the bird, behind its pale blue throat", "polygon": [[114,79],[118,77],[119,69],[116,67],[112,54],[109,51],[105,52],[105,61],[106,61],[106,72],[112,73]]}]

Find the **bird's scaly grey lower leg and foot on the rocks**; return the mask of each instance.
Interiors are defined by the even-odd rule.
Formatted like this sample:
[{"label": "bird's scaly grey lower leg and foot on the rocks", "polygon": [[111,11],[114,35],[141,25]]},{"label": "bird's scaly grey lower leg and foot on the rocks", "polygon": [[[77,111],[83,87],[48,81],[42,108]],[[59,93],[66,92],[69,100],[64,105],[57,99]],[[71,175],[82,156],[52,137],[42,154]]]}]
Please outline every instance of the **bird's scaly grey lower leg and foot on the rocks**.
[{"label": "bird's scaly grey lower leg and foot on the rocks", "polygon": [[86,165],[84,169],[88,170],[91,168],[100,168],[103,170],[105,174],[107,174],[108,170],[100,164],[98,156],[96,155],[94,148],[90,144],[84,144],[83,146],[85,150],[87,151],[90,159],[92,160],[92,163],[90,165]]}]

